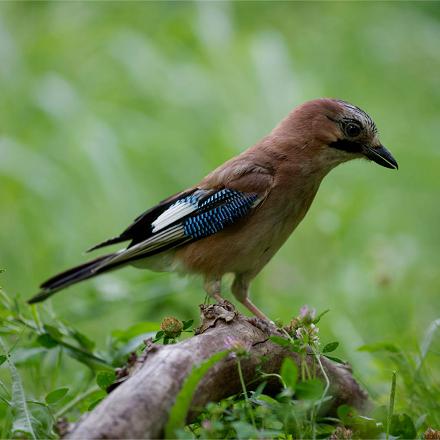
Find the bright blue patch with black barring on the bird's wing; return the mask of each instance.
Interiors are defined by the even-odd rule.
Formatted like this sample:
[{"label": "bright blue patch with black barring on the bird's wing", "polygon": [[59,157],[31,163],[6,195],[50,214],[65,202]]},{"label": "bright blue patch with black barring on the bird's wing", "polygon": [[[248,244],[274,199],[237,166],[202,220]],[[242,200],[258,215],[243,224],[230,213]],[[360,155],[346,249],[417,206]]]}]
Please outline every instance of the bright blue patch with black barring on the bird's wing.
[{"label": "bright blue patch with black barring on the bird's wing", "polygon": [[221,231],[244,217],[254,206],[257,197],[257,194],[223,189],[200,200],[197,213],[183,222],[185,235],[197,240]]}]

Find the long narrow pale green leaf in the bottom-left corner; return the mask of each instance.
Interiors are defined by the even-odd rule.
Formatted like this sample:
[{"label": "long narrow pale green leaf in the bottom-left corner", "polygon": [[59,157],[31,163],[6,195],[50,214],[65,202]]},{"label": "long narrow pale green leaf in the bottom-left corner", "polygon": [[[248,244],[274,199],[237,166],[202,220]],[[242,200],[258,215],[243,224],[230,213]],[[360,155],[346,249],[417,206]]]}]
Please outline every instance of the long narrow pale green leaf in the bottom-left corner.
[{"label": "long narrow pale green leaf in the bottom-left corner", "polygon": [[[0,338],[0,347],[6,353],[6,347],[3,344],[3,340]],[[26,401],[26,395],[23,388],[23,383],[21,382],[20,374],[18,373],[17,368],[14,363],[11,361],[9,357],[6,358],[6,362],[8,363],[9,371],[11,373],[12,378],[12,390],[11,390],[11,407],[12,407],[12,437],[15,437],[16,434],[27,434],[33,440],[36,440],[36,435],[34,432],[34,428],[32,426],[32,422],[35,420],[32,417],[32,414],[29,411]],[[20,436],[22,437],[22,435]]]}]

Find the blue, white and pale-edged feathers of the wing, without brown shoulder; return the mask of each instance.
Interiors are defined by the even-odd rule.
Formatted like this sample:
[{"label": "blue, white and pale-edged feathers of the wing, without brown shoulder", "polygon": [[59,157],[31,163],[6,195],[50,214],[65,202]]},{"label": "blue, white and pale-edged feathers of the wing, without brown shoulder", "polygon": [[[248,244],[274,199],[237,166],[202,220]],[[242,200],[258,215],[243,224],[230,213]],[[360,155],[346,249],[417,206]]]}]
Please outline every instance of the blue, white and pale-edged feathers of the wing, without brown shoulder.
[{"label": "blue, white and pale-edged feathers of the wing, without brown shoulder", "polygon": [[116,253],[105,266],[119,266],[215,234],[248,215],[264,197],[230,188],[196,189],[156,216],[148,225],[148,238]]}]

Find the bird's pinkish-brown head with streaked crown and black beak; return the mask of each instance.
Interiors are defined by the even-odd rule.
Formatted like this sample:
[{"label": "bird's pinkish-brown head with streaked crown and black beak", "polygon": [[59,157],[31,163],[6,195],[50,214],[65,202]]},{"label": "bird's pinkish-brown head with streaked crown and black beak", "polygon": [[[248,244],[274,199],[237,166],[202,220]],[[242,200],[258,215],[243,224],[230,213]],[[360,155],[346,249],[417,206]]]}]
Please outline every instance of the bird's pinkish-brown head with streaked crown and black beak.
[{"label": "bird's pinkish-brown head with streaked crown and black beak", "polygon": [[[376,124],[371,117],[348,102],[337,99],[316,99],[297,108],[277,129],[296,138],[295,144],[324,168],[366,158],[386,168],[397,169],[391,153],[379,141]],[[305,142],[301,146],[299,137]]]}]

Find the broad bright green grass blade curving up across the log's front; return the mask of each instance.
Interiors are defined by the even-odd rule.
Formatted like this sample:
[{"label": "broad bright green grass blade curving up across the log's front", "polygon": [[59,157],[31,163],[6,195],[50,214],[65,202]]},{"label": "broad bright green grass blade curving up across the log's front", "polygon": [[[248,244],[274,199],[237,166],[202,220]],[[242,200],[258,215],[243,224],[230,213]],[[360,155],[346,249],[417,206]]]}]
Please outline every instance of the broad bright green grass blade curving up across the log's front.
[{"label": "broad bright green grass blade curving up across the log's front", "polygon": [[213,365],[220,362],[228,354],[228,350],[220,351],[200,365],[193,367],[171,408],[168,422],[165,426],[165,438],[174,438],[176,430],[185,426],[186,415],[198,383]]}]

